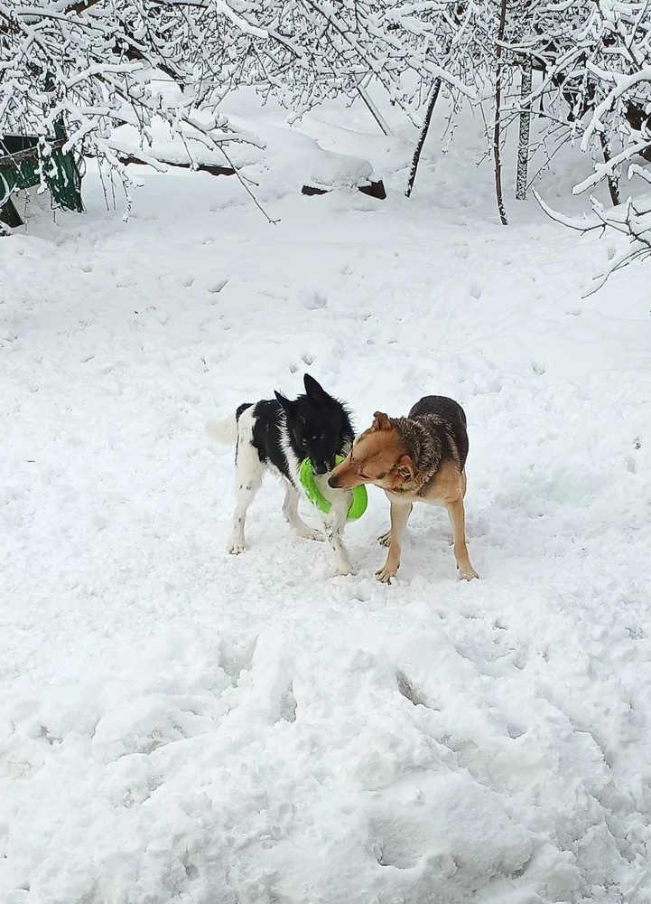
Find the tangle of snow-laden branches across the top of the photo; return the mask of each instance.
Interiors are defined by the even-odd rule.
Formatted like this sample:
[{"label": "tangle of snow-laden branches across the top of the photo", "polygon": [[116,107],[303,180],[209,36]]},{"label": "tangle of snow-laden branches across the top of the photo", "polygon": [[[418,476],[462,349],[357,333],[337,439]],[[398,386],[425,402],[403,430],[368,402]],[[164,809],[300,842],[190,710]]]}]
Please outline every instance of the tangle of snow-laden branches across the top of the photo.
[{"label": "tangle of snow-laden branches across the top of the photo", "polygon": [[[0,133],[50,137],[119,166],[113,128],[146,136],[154,116],[208,149],[255,141],[219,113],[242,85],[293,115],[372,78],[417,124],[439,93],[494,117],[500,168],[520,119],[518,196],[526,189],[529,122],[538,141],[580,137],[618,203],[622,165],[649,179],[651,16],[646,0],[2,0]],[[532,72],[535,78],[532,80]],[[521,73],[521,78],[520,78]],[[517,96],[518,86],[520,88]],[[428,104],[429,99],[429,104]],[[560,138],[559,138],[560,135]],[[553,137],[553,138],[552,138]],[[417,163],[417,161],[416,161]],[[503,218],[504,219],[504,218]]]}]

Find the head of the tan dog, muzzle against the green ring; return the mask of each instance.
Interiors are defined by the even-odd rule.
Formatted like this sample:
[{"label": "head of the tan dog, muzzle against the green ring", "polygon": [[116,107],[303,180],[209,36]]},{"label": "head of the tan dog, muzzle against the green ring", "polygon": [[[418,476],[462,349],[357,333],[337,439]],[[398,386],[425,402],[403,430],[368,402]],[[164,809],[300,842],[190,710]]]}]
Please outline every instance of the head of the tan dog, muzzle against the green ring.
[{"label": "head of the tan dog, muzzle against the green ring", "polygon": [[328,483],[341,490],[375,484],[391,492],[416,476],[414,462],[400,433],[386,414],[376,411],[373,424],[358,436],[349,457],[332,471]]}]

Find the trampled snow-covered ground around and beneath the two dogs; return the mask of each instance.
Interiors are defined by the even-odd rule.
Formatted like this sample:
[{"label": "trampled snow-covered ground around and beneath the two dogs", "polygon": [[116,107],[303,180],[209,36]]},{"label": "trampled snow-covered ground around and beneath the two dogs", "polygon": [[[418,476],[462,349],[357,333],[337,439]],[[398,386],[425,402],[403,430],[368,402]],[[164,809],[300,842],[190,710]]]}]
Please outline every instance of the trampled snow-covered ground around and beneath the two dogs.
[{"label": "trampled snow-covered ground around and beneath the two dogs", "polygon": [[[270,178],[272,226],[233,178],[143,169],[124,223],[91,173],[86,216],[0,240],[0,900],[651,901],[648,271],[582,298],[616,241],[498,225],[479,123],[411,202],[411,132],[300,127],[386,201]],[[378,584],[379,491],[355,577],[272,482],[228,556],[204,422],[305,370],[358,428],[460,400],[481,580],[423,506]]]}]

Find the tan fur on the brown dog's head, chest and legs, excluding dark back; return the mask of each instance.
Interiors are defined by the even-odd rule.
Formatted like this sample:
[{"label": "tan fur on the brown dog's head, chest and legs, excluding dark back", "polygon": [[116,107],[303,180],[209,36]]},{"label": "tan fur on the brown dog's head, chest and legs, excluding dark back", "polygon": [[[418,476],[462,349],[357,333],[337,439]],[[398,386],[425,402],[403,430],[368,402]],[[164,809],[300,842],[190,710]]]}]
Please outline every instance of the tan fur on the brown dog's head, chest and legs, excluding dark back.
[{"label": "tan fur on the brown dog's head, chest and legs, excluding dark back", "polygon": [[391,503],[391,529],[379,541],[389,547],[386,563],[377,571],[377,579],[391,583],[400,567],[402,541],[414,502],[442,505],[450,516],[454,537],[454,557],[461,579],[477,578],[470,564],[466,545],[463,498],[466,473],[457,461],[441,463],[432,476],[420,477],[398,431],[386,414],[376,412],[372,426],[352,447],[347,458],[332,472],[331,485],[353,489],[360,484],[381,487]]}]

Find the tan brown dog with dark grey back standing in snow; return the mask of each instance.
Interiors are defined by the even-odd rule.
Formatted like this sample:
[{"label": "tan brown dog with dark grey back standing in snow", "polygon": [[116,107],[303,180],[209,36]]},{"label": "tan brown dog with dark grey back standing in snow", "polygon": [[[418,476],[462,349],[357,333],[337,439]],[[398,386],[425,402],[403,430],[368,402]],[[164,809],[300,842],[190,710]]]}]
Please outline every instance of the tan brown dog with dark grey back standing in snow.
[{"label": "tan brown dog with dark grey back standing in snow", "polygon": [[391,503],[391,530],[379,541],[389,547],[377,579],[391,583],[400,567],[403,535],[415,502],[444,505],[454,535],[454,557],[460,578],[479,577],[466,546],[463,497],[466,494],[468,433],[458,402],[445,396],[424,396],[406,418],[388,418],[376,411],[372,426],[362,433],[349,456],[328,483],[349,490],[360,484],[381,487]]}]

